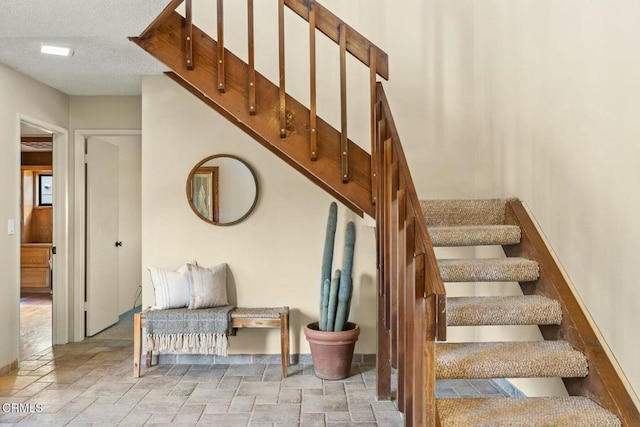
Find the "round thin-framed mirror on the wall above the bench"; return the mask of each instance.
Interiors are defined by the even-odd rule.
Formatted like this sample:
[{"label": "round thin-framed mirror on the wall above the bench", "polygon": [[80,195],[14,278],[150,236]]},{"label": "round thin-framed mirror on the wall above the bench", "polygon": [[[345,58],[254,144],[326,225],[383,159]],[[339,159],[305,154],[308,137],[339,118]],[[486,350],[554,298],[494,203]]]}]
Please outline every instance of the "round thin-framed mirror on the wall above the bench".
[{"label": "round thin-framed mirror on the wall above the bench", "polygon": [[251,166],[236,156],[209,156],[191,170],[187,200],[196,215],[210,224],[237,224],[256,206],[258,179]]}]

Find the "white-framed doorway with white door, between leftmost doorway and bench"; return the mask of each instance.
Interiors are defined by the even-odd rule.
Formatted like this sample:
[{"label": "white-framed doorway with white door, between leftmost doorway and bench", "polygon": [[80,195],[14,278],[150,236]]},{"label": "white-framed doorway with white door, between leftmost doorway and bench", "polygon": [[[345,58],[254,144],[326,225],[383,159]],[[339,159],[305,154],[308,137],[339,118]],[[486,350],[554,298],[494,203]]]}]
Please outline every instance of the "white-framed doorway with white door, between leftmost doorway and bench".
[{"label": "white-framed doorway with white door, between leftmost doorway and bench", "polygon": [[[74,319],[75,340],[84,339],[93,335],[101,328],[109,326],[111,322],[118,320],[118,315],[130,311],[136,305],[137,295],[141,287],[141,131],[140,130],[77,130],[75,141],[75,211],[77,213],[74,246],[76,248],[74,258],[78,260],[74,269],[75,292],[74,305],[81,309],[76,312]],[[117,148],[118,166],[117,176],[113,182],[120,182],[117,192],[118,200],[114,204],[118,209],[111,214],[117,216],[117,233],[104,237],[105,242],[98,245],[98,256],[92,257],[91,251],[95,251],[96,239],[99,234],[90,232],[91,206],[89,191],[91,185],[87,176],[91,176],[92,145],[111,145]],[[87,156],[87,153],[89,155]],[[103,156],[100,156],[102,160]],[[112,175],[114,174],[111,172]],[[105,179],[105,178],[102,178]],[[102,210],[102,209],[100,209]],[[94,219],[95,221],[95,219]],[[98,219],[98,221],[100,221]],[[101,222],[104,223],[104,222]],[[108,257],[104,252],[117,252],[117,274],[110,274],[109,283],[91,283],[96,262],[102,262]],[[95,255],[95,254],[94,254]],[[97,275],[98,278],[104,275]],[[93,286],[93,288],[92,288]],[[104,296],[108,292],[108,296]],[[102,293],[102,296],[100,296]],[[91,296],[98,296],[99,303],[91,300]],[[108,313],[105,313],[104,302],[111,301]],[[93,310],[93,312],[92,312]],[[114,311],[115,310],[115,311]],[[97,321],[95,317],[101,319]],[[106,320],[103,320],[106,319]],[[108,320],[112,319],[112,320]],[[96,326],[103,325],[103,326]]]}]

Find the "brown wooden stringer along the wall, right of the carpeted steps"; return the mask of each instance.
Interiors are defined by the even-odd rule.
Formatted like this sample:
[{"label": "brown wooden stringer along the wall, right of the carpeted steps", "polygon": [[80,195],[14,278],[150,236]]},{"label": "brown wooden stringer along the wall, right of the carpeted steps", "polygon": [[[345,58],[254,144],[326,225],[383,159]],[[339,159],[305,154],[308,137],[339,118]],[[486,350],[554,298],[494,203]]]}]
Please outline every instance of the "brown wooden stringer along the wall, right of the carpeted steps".
[{"label": "brown wooden stringer along the wall, right of the carpeted steps", "polygon": [[564,340],[583,353],[589,362],[589,374],[584,378],[563,378],[571,396],[585,396],[616,414],[624,426],[640,425],[640,414],[633,399],[633,391],[624,374],[614,364],[602,344],[585,308],[580,304],[573,287],[564,274],[541,231],[520,200],[506,206],[505,223],[518,225],[522,230],[517,245],[503,246],[508,257],[533,259],[540,265],[537,282],[521,283],[525,294],[539,294],[560,303],[562,323],[559,326],[539,326],[545,340]]}]

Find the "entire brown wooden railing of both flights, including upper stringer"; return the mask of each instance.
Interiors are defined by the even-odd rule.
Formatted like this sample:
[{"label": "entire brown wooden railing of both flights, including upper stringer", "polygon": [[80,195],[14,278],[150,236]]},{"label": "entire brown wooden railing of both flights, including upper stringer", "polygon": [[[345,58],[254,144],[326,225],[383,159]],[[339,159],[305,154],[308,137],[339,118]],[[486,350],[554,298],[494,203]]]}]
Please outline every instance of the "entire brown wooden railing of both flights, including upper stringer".
[{"label": "entire brown wooden railing of both flights, including upper stringer", "polygon": [[[184,17],[175,11],[183,2]],[[289,165],[353,211],[376,218],[378,399],[391,398],[393,366],[405,425],[436,425],[435,340],[446,337],[446,298],[391,109],[377,82],[377,76],[388,79],[387,54],[314,0],[278,0],[275,85],[255,70],[253,0],[247,0],[248,64],[225,49],[223,0],[216,2],[217,40],[193,25],[191,0],[172,0],[131,40],[173,70],[168,77]],[[285,90],[285,6],[309,23],[309,109]],[[340,131],[317,116],[316,31],[339,45]],[[348,139],[347,53],[370,70],[371,155]]]}]

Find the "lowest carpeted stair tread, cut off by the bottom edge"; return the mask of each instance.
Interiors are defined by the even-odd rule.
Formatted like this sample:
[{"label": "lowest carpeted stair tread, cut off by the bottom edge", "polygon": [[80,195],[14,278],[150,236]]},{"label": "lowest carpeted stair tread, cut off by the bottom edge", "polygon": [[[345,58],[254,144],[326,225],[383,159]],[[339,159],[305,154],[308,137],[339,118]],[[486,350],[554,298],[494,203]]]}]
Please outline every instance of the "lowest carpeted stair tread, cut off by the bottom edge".
[{"label": "lowest carpeted stair tread, cut off by the bottom edge", "polygon": [[621,426],[586,397],[438,399],[443,427]]}]

